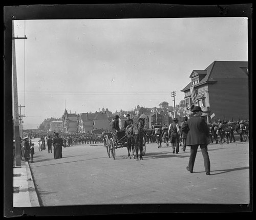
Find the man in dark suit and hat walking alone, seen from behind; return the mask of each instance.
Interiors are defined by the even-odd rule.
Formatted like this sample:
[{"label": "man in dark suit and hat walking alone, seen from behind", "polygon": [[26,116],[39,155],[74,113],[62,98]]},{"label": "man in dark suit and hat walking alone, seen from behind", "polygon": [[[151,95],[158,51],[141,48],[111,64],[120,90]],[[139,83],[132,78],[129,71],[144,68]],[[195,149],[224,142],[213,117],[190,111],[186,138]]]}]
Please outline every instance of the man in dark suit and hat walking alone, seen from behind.
[{"label": "man in dark suit and hat walking alone, seen from behind", "polygon": [[190,157],[186,169],[191,173],[193,172],[197,156],[197,149],[200,145],[204,158],[204,168],[206,175],[210,175],[210,159],[207,149],[207,145],[209,144],[209,129],[204,119],[201,118],[201,107],[195,106],[192,112],[193,116],[187,120],[187,124],[185,124],[182,128],[182,130],[188,131],[186,145],[190,146]]}]

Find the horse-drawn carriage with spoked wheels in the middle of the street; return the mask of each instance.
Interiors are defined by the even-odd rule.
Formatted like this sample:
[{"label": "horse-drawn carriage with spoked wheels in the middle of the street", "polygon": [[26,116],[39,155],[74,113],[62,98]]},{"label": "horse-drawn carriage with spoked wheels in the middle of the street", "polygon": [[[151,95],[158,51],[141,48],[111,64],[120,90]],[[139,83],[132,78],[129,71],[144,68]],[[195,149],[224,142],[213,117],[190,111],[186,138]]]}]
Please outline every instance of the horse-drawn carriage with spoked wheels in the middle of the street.
[{"label": "horse-drawn carriage with spoked wheels in the middle of the street", "polygon": [[[129,139],[130,134],[125,134],[125,130],[119,130],[116,132],[116,137],[115,133],[104,133],[104,139],[103,139],[103,144],[106,147],[106,152],[108,153],[109,158],[112,157],[114,160],[116,158],[116,149],[117,148],[122,148],[122,147],[127,147],[128,154],[130,157],[130,152],[129,150],[133,149],[134,143],[130,142],[132,140]],[[131,149],[130,149],[131,148]],[[141,156],[144,156],[146,152],[146,145],[145,143],[142,144],[142,151],[141,151]],[[134,151],[133,151],[133,157],[134,157]]]}]

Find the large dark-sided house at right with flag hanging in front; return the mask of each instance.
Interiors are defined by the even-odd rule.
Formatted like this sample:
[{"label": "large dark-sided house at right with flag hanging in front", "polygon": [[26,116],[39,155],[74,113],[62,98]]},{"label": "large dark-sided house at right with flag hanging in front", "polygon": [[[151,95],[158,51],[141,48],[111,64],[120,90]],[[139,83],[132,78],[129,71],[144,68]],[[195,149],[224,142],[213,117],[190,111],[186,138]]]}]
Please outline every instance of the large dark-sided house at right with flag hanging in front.
[{"label": "large dark-sided house at right with flag hanging in front", "polygon": [[205,70],[193,70],[184,87],[185,115],[193,105],[201,106],[202,117],[212,120],[249,119],[248,62],[214,61]]}]

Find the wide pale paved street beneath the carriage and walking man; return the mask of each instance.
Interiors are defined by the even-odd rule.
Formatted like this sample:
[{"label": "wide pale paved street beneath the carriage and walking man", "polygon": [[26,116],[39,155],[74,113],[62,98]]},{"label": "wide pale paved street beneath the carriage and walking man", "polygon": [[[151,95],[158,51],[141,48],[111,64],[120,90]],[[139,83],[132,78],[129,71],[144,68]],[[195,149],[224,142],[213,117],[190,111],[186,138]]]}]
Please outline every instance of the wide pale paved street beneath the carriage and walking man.
[{"label": "wide pale paved street beneath the carriage and walking man", "polygon": [[[36,142],[35,142],[36,143]],[[143,160],[127,159],[127,149],[109,158],[103,144],[62,148],[62,159],[35,146],[30,163],[40,206],[99,204],[248,204],[249,144],[208,146],[211,175],[198,150],[194,173],[186,170],[189,150],[147,144]]]}]

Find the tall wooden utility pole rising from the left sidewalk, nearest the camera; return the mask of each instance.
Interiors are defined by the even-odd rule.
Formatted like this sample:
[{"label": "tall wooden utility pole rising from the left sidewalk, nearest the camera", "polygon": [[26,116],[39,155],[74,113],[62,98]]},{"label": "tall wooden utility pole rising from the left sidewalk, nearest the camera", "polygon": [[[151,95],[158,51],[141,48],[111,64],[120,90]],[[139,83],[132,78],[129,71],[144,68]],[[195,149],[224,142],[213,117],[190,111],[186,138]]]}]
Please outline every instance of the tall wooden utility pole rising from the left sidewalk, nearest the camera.
[{"label": "tall wooden utility pole rising from the left sidewalk, nearest the camera", "polygon": [[21,166],[20,160],[20,136],[19,136],[19,114],[18,114],[18,87],[17,69],[15,55],[15,39],[27,39],[25,37],[14,37],[14,21],[12,21],[12,77],[13,77],[13,108],[14,108],[14,140],[15,140],[15,166]]}]

